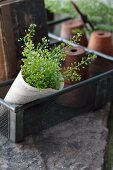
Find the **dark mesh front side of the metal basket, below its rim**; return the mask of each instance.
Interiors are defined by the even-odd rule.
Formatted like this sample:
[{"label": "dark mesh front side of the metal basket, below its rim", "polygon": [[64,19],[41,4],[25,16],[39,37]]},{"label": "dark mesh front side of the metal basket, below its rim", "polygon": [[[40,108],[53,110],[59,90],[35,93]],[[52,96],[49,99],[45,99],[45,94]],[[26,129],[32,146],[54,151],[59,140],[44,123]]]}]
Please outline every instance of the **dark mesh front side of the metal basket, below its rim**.
[{"label": "dark mesh front side of the metal basket, below its rim", "polygon": [[79,114],[98,109],[113,98],[113,76],[42,102],[24,112],[24,135],[37,134]]}]

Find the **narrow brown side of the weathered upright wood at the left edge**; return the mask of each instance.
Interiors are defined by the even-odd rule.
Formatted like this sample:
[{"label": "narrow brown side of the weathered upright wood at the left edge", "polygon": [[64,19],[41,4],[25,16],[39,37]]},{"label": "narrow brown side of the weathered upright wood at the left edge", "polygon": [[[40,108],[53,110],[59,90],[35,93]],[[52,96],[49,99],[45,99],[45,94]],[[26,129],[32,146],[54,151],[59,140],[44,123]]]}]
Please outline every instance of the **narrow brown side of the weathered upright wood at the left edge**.
[{"label": "narrow brown side of the weathered upright wood at the left edge", "polygon": [[15,38],[13,33],[13,23],[10,13],[10,6],[3,6],[0,8],[0,22],[1,22],[1,52],[0,55],[1,63],[4,64],[5,77],[2,80],[13,78],[17,74],[17,57],[16,57],[16,46]]}]

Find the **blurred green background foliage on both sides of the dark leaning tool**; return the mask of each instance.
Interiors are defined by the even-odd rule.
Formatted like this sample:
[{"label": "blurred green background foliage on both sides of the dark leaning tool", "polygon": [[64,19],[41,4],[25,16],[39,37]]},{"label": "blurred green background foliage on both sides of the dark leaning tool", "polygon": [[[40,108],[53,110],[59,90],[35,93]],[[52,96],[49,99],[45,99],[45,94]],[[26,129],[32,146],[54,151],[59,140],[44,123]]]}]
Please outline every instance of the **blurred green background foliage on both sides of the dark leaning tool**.
[{"label": "blurred green background foliage on both sides of the dark leaning tool", "polygon": [[[113,0],[73,0],[79,9],[88,15],[96,30],[113,31]],[[48,10],[78,18],[70,0],[45,0]]]}]

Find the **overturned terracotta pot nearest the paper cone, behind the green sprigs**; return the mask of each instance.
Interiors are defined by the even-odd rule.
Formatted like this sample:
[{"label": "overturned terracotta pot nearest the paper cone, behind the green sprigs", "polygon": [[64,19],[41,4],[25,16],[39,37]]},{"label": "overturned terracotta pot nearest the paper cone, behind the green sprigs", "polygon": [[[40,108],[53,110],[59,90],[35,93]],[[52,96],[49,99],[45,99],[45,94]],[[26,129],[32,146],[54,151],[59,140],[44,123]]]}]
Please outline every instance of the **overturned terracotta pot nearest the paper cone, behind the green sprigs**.
[{"label": "overturned terracotta pot nearest the paper cone, behind the green sprigs", "polygon": [[[70,66],[73,62],[80,62],[82,60],[82,57],[85,56],[85,51],[81,47],[77,48],[66,48],[65,49],[67,58],[65,62],[63,63],[63,69],[64,67]],[[81,69],[79,71],[79,74],[81,74],[82,80],[88,78],[88,66],[84,69]],[[69,82],[65,81],[65,87],[69,87],[72,84],[75,84],[76,82]],[[65,93],[59,97],[57,97],[57,103],[63,106],[67,107],[73,107],[73,108],[79,108],[84,107],[92,103],[93,97],[91,93],[91,88],[89,86],[83,86],[81,88],[72,90],[68,93]]]}]

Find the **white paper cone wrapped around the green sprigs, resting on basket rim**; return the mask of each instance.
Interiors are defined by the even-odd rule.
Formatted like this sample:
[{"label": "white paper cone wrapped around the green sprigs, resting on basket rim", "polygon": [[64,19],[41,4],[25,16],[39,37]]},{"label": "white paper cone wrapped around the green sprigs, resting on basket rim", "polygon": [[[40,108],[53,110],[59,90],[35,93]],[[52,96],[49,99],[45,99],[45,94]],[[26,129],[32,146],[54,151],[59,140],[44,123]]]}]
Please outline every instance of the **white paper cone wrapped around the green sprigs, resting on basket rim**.
[{"label": "white paper cone wrapped around the green sprigs, resting on basket rim", "polygon": [[[63,86],[64,83],[62,82],[59,90],[61,90]],[[48,88],[38,91],[37,88],[30,86],[24,81],[20,71],[4,100],[14,104],[25,104],[49,96],[59,90]]]}]

